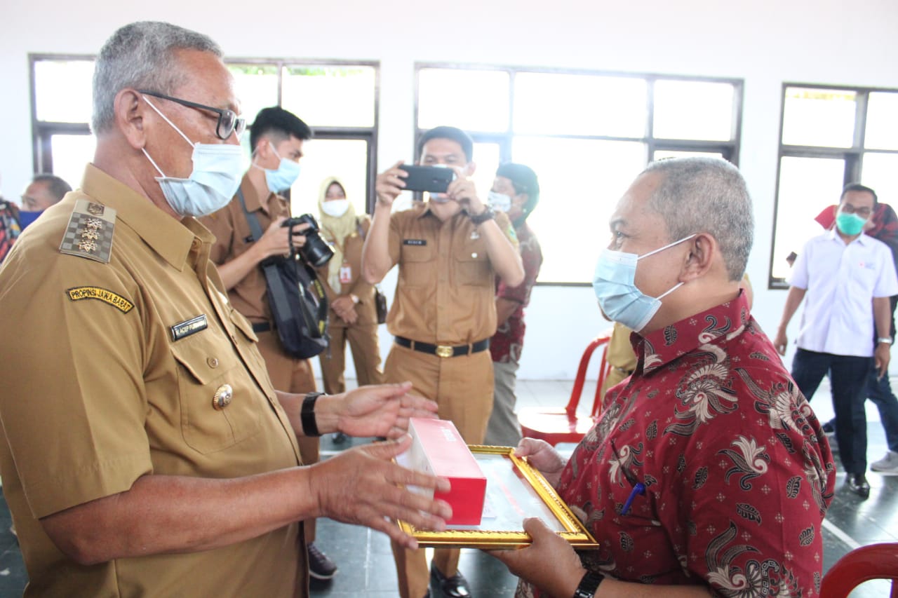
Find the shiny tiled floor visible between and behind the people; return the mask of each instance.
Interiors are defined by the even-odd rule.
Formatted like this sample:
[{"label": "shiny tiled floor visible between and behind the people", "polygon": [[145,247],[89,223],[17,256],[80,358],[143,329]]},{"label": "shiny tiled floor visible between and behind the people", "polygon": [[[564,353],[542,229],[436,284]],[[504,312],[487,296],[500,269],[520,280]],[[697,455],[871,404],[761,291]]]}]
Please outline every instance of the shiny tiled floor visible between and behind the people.
[{"label": "shiny tiled floor visible between and behind the people", "polygon": [[[825,384],[825,382],[824,382]],[[563,406],[570,393],[570,381],[521,381],[518,388],[519,405],[522,407]],[[592,402],[594,384],[584,389],[585,403]],[[823,420],[832,417],[829,389],[822,385],[812,402]],[[885,436],[876,416],[876,409],[867,403],[869,420],[869,447],[867,456],[876,461],[885,454]],[[588,409],[589,405],[585,405]],[[352,441],[334,444],[326,436],[321,442],[321,452],[343,450]],[[836,496],[832,501],[823,528],[823,570],[849,550],[859,545],[898,541],[898,476],[867,474],[872,491],[866,501],[860,500],[844,488],[844,475],[840,475]],[[0,497],[0,598],[21,596],[27,582],[22,555],[13,535],[9,532],[10,517],[5,501]],[[327,583],[313,584],[313,596],[331,598],[396,596],[396,569],[393,566],[390,543],[386,536],[366,528],[321,520],[318,524],[316,545],[338,564],[337,576]],[[475,598],[480,596],[506,596],[515,594],[516,580],[496,559],[479,550],[462,550],[460,563],[467,576]],[[852,598],[874,598],[888,595],[885,582],[873,581],[858,587]]]}]

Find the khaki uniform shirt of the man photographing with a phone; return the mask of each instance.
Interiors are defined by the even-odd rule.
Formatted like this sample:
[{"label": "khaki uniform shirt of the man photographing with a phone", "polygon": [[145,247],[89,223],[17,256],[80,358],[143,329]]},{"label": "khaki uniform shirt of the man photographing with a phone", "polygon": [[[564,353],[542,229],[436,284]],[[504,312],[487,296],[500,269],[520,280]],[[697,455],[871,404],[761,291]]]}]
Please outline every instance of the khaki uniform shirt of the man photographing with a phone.
[{"label": "khaki uniform shirt of the man photographing with a phone", "polygon": [[[509,239],[514,229],[496,215]],[[496,332],[496,273],[487,242],[463,210],[445,222],[427,204],[393,214],[390,258],[399,280],[387,330],[439,345],[463,345]]]}]

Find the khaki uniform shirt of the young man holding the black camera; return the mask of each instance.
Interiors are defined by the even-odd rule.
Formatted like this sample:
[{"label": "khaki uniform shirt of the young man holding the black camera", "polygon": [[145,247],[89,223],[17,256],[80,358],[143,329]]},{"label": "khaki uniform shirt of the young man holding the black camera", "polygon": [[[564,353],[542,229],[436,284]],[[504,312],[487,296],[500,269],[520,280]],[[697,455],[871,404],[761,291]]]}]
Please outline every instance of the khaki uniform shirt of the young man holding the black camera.
[{"label": "khaki uniform shirt of the young man holding the black camera", "polygon": [[[262,233],[269,229],[272,221],[290,215],[290,204],[285,198],[275,193],[269,193],[268,198],[260,198],[246,175],[243,176],[240,189],[243,192],[246,209],[255,212]],[[214,214],[203,216],[199,221],[216,235],[209,259],[218,266],[242,255],[253,243],[250,224],[246,222],[240,199],[236,197],[227,206]],[[249,321],[271,321],[268,287],[262,268],[252,268],[249,274],[227,292],[227,295],[234,309],[241,312]]]}]

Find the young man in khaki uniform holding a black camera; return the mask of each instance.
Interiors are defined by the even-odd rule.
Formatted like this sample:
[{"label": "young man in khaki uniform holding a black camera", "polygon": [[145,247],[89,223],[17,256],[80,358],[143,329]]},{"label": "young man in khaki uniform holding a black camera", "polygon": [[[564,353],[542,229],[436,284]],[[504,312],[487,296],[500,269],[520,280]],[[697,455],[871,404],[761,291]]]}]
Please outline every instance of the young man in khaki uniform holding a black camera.
[{"label": "young man in khaki uniform holding a black camera", "polygon": [[[209,259],[218,266],[234,309],[251,321],[252,330],[259,337],[259,350],[265,358],[271,383],[277,389],[296,393],[315,391],[312,365],[308,359],[288,355],[281,345],[273,325],[262,265],[271,258],[290,257],[292,251],[298,249],[315,266],[319,264],[314,262],[327,249],[327,244],[321,242],[321,237],[314,231],[309,234],[309,239],[321,242],[324,250],[314,242],[306,247],[310,225],[317,229],[314,219],[307,215],[290,218],[290,202],[278,195],[290,189],[299,176],[303,144],[312,136],[312,129],[302,119],[277,106],[260,110],[253,121],[250,131],[252,163],[243,175],[238,196],[242,195],[246,211],[259,221],[263,233],[258,241],[252,241],[251,226],[240,197],[234,197],[226,207],[200,218],[200,222],[216,235]],[[303,438],[299,447],[304,463],[318,462],[318,438]],[[336,574],[337,567],[313,544],[314,520],[306,523],[305,538],[309,574],[315,579],[330,579]]]}]

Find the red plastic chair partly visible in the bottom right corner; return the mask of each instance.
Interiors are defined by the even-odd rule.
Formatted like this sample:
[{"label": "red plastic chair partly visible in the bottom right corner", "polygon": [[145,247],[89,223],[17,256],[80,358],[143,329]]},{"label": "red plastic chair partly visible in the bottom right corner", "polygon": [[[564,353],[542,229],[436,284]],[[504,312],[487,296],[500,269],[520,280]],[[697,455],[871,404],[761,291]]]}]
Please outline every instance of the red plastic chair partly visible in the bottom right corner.
[{"label": "red plastic chair partly visible in the bottom right corner", "polygon": [[898,598],[898,542],[870,544],[851,550],[823,576],[823,598],[846,598],[856,586],[871,579],[891,579],[891,598]]}]

